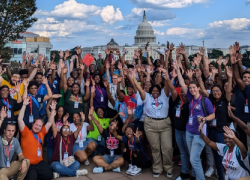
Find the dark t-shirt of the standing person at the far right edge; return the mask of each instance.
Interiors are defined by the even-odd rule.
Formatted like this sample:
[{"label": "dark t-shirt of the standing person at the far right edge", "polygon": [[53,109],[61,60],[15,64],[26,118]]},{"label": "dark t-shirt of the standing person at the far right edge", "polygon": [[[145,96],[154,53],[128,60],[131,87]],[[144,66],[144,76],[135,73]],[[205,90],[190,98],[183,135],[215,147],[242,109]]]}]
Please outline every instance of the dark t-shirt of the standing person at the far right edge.
[{"label": "dark t-shirt of the standing person at the far right edge", "polygon": [[244,91],[240,90],[240,88],[235,86],[235,94],[236,94],[236,110],[235,116],[242,121],[248,122],[249,113],[245,113],[245,104],[247,100],[247,95]]}]

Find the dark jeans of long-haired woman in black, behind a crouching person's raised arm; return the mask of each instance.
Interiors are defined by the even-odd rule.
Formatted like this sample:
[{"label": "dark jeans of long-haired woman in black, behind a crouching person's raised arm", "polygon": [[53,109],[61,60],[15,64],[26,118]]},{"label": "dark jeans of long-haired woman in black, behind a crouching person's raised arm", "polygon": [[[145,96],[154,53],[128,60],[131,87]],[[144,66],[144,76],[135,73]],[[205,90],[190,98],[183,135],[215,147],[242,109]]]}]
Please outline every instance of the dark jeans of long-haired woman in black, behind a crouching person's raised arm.
[{"label": "dark jeans of long-haired woman in black, behind a crouching person's raised arm", "polygon": [[[217,142],[217,143],[222,143],[225,144],[224,142],[224,134],[216,131],[211,131],[208,133],[208,137],[211,141]],[[222,166],[222,160],[223,157],[218,154],[217,151],[212,150],[214,154],[214,162],[216,165],[217,173],[219,176],[219,180],[224,180],[224,175],[223,175],[223,166]]]}]

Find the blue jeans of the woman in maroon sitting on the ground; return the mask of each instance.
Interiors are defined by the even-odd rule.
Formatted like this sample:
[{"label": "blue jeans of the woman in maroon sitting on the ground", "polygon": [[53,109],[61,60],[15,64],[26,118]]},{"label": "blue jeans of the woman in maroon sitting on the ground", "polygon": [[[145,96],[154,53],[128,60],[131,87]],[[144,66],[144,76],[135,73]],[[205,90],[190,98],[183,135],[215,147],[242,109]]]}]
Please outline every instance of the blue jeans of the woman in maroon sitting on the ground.
[{"label": "blue jeans of the woman in maroon sitting on the ground", "polygon": [[56,161],[50,164],[50,168],[60,174],[60,176],[76,176],[76,171],[80,168],[80,163],[75,161],[69,167],[62,165],[60,162]]}]

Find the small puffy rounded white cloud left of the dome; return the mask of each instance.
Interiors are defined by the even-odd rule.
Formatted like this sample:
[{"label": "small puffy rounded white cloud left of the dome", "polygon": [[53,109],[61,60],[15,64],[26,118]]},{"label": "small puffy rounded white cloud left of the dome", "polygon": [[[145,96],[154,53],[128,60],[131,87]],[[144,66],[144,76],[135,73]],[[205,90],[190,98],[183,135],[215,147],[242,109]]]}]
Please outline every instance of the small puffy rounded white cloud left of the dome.
[{"label": "small puffy rounded white cloud left of the dome", "polygon": [[102,9],[100,14],[102,20],[106,23],[113,24],[116,21],[122,21],[123,16],[119,8],[114,9],[113,6],[106,6]]}]

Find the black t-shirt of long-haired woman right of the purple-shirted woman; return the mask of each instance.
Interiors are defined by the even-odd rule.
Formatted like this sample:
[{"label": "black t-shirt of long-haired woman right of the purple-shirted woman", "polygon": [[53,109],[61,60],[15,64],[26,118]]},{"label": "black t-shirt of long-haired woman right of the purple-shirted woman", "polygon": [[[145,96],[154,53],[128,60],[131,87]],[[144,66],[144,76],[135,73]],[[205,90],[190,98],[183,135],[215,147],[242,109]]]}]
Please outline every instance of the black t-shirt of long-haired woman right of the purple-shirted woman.
[{"label": "black t-shirt of long-haired woman right of the purple-shirted woman", "polygon": [[[213,130],[217,132],[224,133],[223,126],[227,126],[227,122],[230,122],[230,118],[228,116],[227,105],[228,105],[228,101],[224,99],[218,103],[215,109],[216,126],[211,126],[211,127],[213,128]],[[212,121],[210,122],[212,125]]]}]

